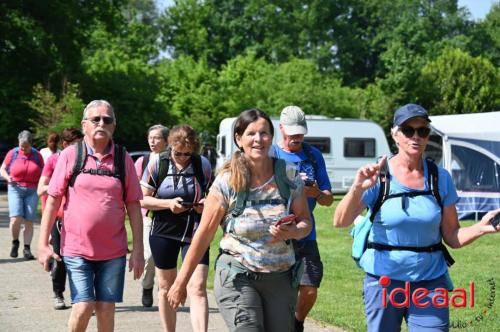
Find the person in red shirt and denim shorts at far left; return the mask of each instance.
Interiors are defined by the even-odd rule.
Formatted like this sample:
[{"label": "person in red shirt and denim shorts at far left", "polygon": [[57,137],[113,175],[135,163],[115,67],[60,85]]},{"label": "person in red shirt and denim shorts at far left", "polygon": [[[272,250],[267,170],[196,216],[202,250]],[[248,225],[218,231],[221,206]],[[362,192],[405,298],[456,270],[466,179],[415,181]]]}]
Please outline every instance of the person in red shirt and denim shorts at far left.
[{"label": "person in red shirt and denim shorts at far left", "polygon": [[36,187],[42,174],[42,155],[32,147],[33,136],[23,130],[18,136],[19,146],[10,150],[0,167],[0,175],[8,184],[10,231],[12,248],[10,257],[16,258],[19,251],[19,234],[24,225],[24,250],[26,260],[35,259],[31,253],[33,220],[36,218],[38,195]]}]

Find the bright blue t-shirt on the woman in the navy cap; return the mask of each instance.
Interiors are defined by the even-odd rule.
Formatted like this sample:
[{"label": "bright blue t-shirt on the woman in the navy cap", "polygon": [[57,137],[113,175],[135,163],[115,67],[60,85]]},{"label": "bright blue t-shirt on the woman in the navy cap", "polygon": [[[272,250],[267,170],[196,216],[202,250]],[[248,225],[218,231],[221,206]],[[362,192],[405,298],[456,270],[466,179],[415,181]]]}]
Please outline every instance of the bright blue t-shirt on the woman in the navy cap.
[{"label": "bright blue t-shirt on the woman in the navy cap", "polygon": [[[419,190],[429,190],[427,163],[423,164],[426,180],[424,188]],[[392,174],[390,166],[389,173]],[[438,167],[438,178],[443,207],[455,204],[458,196],[450,174]],[[417,191],[402,185],[394,176],[389,175],[388,180],[391,183],[389,194]],[[363,203],[370,210],[377,200],[379,188],[380,183],[377,182],[363,193]],[[373,220],[368,237],[368,241],[374,243],[411,247],[427,247],[441,240],[441,208],[432,195],[402,196],[386,200]],[[360,265],[367,273],[402,281],[431,280],[447,271],[441,251],[367,249],[361,257]]]}]

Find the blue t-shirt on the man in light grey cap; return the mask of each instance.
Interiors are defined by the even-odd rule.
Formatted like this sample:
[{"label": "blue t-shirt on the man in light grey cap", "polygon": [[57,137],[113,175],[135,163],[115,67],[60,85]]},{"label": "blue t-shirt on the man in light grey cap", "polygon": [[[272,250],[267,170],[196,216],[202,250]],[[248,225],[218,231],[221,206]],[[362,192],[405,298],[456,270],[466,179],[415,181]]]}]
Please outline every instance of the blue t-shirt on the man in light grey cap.
[{"label": "blue t-shirt on the man in light grey cap", "polygon": [[[325,159],[323,158],[321,151],[311,145],[309,145],[309,148],[311,149],[311,153],[316,160],[316,172],[314,171],[313,164],[307,158],[304,149],[300,152],[287,152],[281,149],[278,145],[273,144],[272,149],[270,149],[270,155],[296,165],[297,170],[300,173],[306,173],[309,179],[316,180],[320,190],[331,190],[332,185],[330,183],[330,179],[328,178],[328,173],[326,172]],[[313,215],[314,208],[316,207],[316,199],[314,197],[308,197],[307,203],[309,205],[309,211],[311,212],[313,227],[311,233],[309,233],[309,235],[301,241],[316,240],[316,222],[314,221]]]}]

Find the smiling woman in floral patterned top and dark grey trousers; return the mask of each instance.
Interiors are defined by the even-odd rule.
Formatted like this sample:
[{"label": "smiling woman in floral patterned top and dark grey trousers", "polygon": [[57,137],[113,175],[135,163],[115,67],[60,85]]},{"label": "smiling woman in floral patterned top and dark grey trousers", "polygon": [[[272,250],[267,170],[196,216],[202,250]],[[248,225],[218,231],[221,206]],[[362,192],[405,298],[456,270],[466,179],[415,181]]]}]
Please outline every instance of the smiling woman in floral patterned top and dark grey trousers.
[{"label": "smiling woman in floral patterned top and dark grey trousers", "polygon": [[[234,141],[239,150],[212,185],[199,229],[168,293],[172,307],[184,303],[189,276],[221,225],[224,236],[214,291],[231,331],[288,332],[293,327],[299,276],[290,240],[307,236],[311,222],[303,183],[293,165],[286,167],[286,176],[295,189],[288,202],[280,195],[274,161],[269,157],[273,135],[271,120],[258,109],[244,111],[236,120]],[[246,190],[247,204],[234,217],[228,212],[236,204],[237,194]],[[275,226],[289,212],[296,216],[295,221]]]}]

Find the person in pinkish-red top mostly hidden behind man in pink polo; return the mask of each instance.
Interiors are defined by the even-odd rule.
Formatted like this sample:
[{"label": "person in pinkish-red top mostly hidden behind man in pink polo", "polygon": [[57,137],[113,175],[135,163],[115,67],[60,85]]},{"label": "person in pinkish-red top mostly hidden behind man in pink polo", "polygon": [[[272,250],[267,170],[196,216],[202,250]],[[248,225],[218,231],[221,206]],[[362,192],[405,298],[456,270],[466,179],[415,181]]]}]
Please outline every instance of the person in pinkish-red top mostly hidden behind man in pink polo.
[{"label": "person in pinkish-red top mostly hidden behind man in pink polo", "polygon": [[[62,147],[63,149],[70,146],[73,142],[79,141],[83,138],[83,134],[79,129],[76,128],[66,128],[63,130],[62,135]],[[42,201],[42,212],[45,209],[45,202],[47,201],[47,190],[49,188],[49,181],[56,168],[57,159],[59,158],[59,152],[52,154],[47,158],[47,162],[43,167],[42,176],[38,181],[38,196],[40,196]],[[51,244],[54,252],[58,255],[61,254],[61,227],[63,221],[63,205],[59,208],[57,212],[56,222],[52,227]],[[64,303],[64,290],[66,288],[66,266],[63,261],[52,261],[52,267],[50,269],[50,274],[52,277],[52,289],[54,291],[54,309],[61,310],[66,308],[66,303]]]}]

